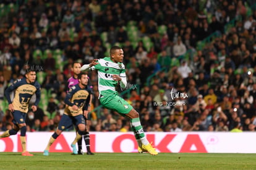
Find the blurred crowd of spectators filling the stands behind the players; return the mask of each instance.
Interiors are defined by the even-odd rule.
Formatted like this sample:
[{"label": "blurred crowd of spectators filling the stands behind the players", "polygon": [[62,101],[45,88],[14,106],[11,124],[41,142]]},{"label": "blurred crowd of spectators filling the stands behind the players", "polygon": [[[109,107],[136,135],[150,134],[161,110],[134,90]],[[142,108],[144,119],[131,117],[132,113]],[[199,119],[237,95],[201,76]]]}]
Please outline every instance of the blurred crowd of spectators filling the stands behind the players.
[{"label": "blurred crowd of spectators filling the stands behind the players", "polygon": [[[27,114],[27,128],[54,131],[64,112],[72,62],[88,64],[109,56],[109,46],[120,45],[129,82],[124,97],[140,113],[145,131],[255,131],[253,2],[28,0],[11,6],[6,1],[10,11],[0,28],[1,103],[7,85],[23,77],[27,64],[35,66],[46,95],[38,110]],[[218,36],[198,48],[213,33]],[[88,75],[93,108],[100,108],[97,76]],[[11,128],[12,116],[2,106],[4,131]],[[130,130],[126,118],[105,108],[92,112],[88,127]]]}]

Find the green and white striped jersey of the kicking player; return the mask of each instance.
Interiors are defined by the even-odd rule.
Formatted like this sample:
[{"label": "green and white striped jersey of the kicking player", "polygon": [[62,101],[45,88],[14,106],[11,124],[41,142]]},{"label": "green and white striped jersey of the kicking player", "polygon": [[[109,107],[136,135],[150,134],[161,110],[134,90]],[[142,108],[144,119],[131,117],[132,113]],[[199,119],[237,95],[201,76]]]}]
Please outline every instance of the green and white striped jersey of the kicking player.
[{"label": "green and white striped jersey of the kicking player", "polygon": [[122,62],[113,62],[110,57],[98,59],[97,65],[91,67],[92,70],[98,70],[98,90],[100,95],[113,95],[117,93],[117,81],[113,80],[114,74],[119,75],[124,82],[121,81],[121,87],[126,87],[126,69]]}]

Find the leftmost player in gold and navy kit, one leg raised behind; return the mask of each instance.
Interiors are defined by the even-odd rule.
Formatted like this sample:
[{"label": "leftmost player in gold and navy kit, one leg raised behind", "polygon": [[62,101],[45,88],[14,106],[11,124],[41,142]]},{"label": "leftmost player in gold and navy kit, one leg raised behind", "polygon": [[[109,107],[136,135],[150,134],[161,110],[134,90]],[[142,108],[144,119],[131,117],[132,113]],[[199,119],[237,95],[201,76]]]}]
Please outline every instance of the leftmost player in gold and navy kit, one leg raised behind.
[{"label": "leftmost player in gold and navy kit, one leg raised behind", "polygon": [[[26,132],[27,125],[25,124],[26,114],[28,113],[29,101],[32,98],[33,94],[36,94],[35,103],[32,105],[32,111],[35,112],[37,105],[40,102],[40,84],[36,82],[36,72],[26,70],[25,77],[23,79],[15,80],[15,82],[9,86],[5,91],[5,96],[9,103],[8,109],[11,111],[14,119],[14,123],[11,130],[6,130],[0,138],[9,137],[10,135],[16,135],[20,130],[20,142],[22,145],[22,156],[33,156],[27,151],[27,140]],[[11,100],[11,92],[15,91],[14,99]]]}]

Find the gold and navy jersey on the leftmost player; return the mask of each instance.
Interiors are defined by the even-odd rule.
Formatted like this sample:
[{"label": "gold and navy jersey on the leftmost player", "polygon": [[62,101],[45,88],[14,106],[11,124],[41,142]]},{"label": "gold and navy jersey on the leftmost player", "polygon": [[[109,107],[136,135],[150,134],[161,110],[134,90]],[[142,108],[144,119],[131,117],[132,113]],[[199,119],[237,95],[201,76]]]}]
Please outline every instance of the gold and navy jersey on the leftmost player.
[{"label": "gold and navy jersey on the leftmost player", "polygon": [[[11,101],[10,93],[14,91],[14,100]],[[9,104],[14,105],[14,110],[22,113],[28,112],[28,104],[33,94],[36,94],[35,106],[40,102],[40,84],[38,82],[27,83],[26,79],[18,79],[6,89],[6,98]]]}]

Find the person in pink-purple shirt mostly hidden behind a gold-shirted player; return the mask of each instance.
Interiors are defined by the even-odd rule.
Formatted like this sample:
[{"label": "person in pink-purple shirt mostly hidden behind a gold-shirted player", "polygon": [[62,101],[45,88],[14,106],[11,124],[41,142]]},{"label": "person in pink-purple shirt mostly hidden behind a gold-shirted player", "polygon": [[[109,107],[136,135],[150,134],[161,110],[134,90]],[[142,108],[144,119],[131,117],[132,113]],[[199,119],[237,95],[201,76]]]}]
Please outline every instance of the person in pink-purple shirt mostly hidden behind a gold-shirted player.
[{"label": "person in pink-purple shirt mostly hidden behind a gold-shirted player", "polygon": [[[72,87],[74,85],[77,85],[79,83],[79,80],[77,79],[78,75],[80,74],[80,69],[81,69],[81,64],[79,62],[73,62],[72,63],[72,71],[74,72],[74,75],[72,77],[69,78],[69,80],[67,80],[68,82],[68,87]],[[88,88],[90,88],[88,86]],[[90,103],[88,105],[88,111],[85,111],[87,112],[90,112],[90,105],[92,103],[92,94],[90,95]],[[85,121],[87,119],[85,118]],[[82,137],[84,140],[85,140],[85,146],[87,148],[87,155],[94,155],[90,149],[90,134],[85,126],[85,135],[83,135]],[[82,138],[80,138],[78,141],[77,141],[77,145],[78,145],[78,154],[79,155],[83,155],[83,149],[82,149]]]}]

